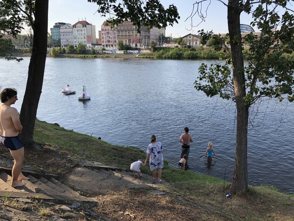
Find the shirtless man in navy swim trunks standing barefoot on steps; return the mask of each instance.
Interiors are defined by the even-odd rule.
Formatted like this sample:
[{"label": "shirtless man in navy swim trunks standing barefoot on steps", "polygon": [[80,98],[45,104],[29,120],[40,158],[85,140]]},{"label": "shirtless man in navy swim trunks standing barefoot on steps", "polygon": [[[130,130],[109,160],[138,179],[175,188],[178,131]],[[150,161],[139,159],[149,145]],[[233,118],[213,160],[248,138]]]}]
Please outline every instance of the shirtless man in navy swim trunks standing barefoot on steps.
[{"label": "shirtless man in navy swim trunks standing barefoot on steps", "polygon": [[17,109],[10,107],[17,101],[17,90],[13,88],[5,88],[0,94],[0,142],[7,147],[14,158],[12,167],[12,187],[26,185],[21,182],[23,179],[29,179],[23,176],[21,168],[24,161],[23,143],[19,138],[23,126],[20,124]]}]

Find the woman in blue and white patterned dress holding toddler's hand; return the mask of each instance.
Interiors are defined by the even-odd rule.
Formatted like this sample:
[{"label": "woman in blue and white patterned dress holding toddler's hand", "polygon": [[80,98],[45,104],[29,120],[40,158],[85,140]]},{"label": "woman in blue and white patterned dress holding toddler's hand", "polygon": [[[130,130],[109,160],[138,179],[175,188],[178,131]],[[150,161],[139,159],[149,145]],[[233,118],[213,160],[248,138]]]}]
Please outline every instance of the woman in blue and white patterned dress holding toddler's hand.
[{"label": "woman in blue and white patterned dress holding toddler's hand", "polygon": [[149,158],[150,170],[153,171],[153,179],[156,179],[156,169],[158,169],[158,181],[161,182],[161,168],[163,168],[163,148],[161,142],[156,141],[156,136],[151,136],[151,144],[147,148],[145,163]]}]

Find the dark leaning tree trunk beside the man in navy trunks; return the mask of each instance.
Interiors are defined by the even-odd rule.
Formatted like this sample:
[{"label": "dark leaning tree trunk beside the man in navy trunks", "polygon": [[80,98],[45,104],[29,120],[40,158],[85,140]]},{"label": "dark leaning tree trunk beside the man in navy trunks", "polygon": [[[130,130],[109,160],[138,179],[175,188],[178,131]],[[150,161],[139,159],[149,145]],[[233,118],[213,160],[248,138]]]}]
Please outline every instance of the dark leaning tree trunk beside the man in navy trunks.
[{"label": "dark leaning tree trunk beside the man in navy trunks", "polygon": [[35,120],[43,86],[47,54],[48,0],[35,1],[34,19],[32,55],[26,92],[20,110],[20,122],[23,125],[20,136],[25,145],[33,142]]}]

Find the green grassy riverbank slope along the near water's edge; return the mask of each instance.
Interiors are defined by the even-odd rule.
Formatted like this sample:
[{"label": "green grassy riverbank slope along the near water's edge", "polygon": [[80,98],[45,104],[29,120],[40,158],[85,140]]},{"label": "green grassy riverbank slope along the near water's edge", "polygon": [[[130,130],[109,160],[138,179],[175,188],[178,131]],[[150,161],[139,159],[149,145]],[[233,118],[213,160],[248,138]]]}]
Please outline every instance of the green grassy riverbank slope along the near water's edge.
[{"label": "green grassy riverbank slope along the near water's edge", "polygon": [[[93,136],[66,130],[39,120],[36,120],[34,140],[73,154],[84,152],[92,160],[121,168],[129,168],[130,163],[139,158],[145,159],[146,156],[142,150],[113,146]],[[141,170],[151,175],[148,166],[141,167]],[[165,189],[167,192],[189,199],[201,207],[210,205],[218,211],[234,214],[234,218],[237,219],[294,220],[293,195],[280,193],[274,187],[250,186],[246,196],[232,195],[226,198],[229,183],[225,184],[224,189],[222,180],[177,170],[169,167],[167,161],[164,162],[162,178],[171,183],[168,189]]]}]

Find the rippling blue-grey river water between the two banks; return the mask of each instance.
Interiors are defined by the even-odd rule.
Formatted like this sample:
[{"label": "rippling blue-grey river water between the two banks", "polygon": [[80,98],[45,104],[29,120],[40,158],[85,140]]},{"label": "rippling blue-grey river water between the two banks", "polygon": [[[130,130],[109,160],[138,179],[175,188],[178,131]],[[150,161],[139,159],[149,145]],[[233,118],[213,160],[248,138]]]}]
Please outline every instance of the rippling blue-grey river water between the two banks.
[{"label": "rippling blue-grey river water between the two banks", "polygon": [[[29,59],[20,63],[0,59],[0,88],[14,87],[20,111]],[[177,168],[179,137],[188,126],[194,142],[190,170],[231,181],[235,153],[235,104],[208,98],[194,89],[201,63],[213,61],[135,58],[47,58],[37,117],[66,129],[101,137],[113,145],[146,150],[155,134],[164,158]],[[76,95],[63,95],[70,85]],[[91,99],[79,101],[82,86]],[[294,105],[267,99],[250,110],[248,181],[294,192]],[[208,142],[217,157],[207,164]],[[91,148],[91,147],[89,147]],[[134,160],[136,157],[134,156]]]}]

